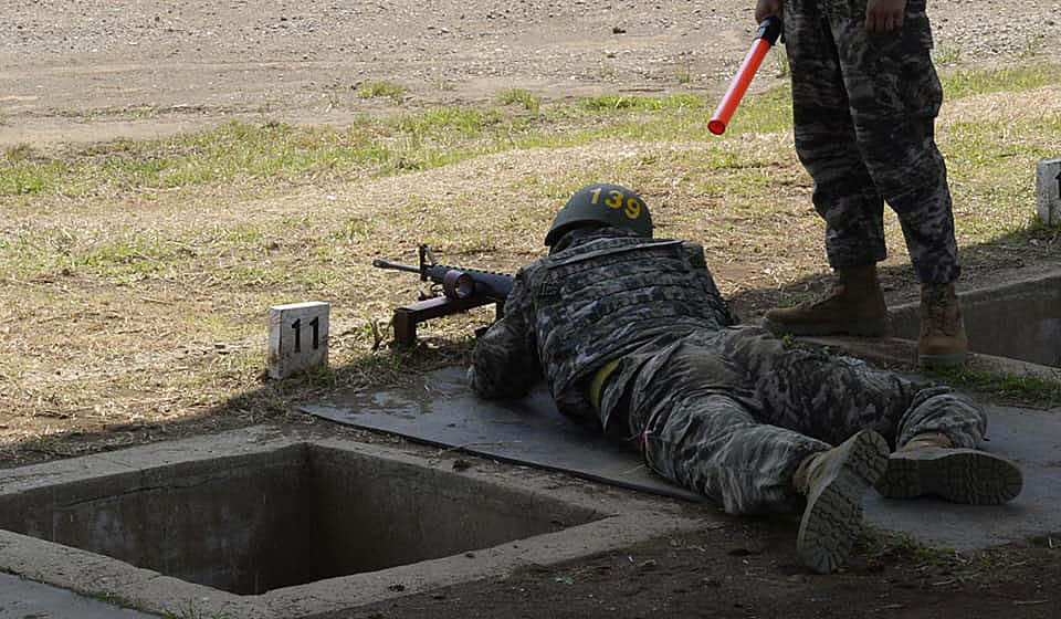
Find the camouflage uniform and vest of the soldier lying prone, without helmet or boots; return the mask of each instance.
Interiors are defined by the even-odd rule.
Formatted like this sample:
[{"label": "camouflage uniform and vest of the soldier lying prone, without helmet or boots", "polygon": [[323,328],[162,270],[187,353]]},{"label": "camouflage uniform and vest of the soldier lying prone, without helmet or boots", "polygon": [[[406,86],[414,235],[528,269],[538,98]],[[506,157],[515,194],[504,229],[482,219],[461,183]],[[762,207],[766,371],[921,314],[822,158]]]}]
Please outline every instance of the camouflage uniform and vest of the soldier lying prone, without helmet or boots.
[{"label": "camouflage uniform and vest of the soldier lying prone, without helmet or boots", "polygon": [[[863,428],[893,444],[935,431],[974,447],[984,434],[983,410],[947,388],[786,349],[735,322],[698,245],[576,230],[516,274],[469,377],[484,397],[519,397],[544,373],[561,412],[638,440],[653,471],[731,513],[792,510],[799,463]],[[606,366],[595,408],[589,386]]]}]

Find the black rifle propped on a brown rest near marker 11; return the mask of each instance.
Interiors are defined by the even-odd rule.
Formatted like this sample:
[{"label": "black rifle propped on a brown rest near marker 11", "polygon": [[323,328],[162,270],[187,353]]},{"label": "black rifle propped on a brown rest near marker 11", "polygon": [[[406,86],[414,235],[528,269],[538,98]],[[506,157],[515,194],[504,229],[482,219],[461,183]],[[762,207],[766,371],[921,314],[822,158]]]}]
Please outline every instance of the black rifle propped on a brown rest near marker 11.
[{"label": "black rifle propped on a brown rest near marker 11", "polygon": [[418,248],[420,265],[399,264],[377,258],[372,266],[393,269],[420,275],[421,282],[442,286],[442,296],[421,297],[417,303],[395,308],[395,340],[402,346],[417,343],[417,325],[439,316],[466,312],[473,307],[493,303],[496,317],[505,313],[505,300],[512,292],[512,275],[439,264],[428,245]]}]

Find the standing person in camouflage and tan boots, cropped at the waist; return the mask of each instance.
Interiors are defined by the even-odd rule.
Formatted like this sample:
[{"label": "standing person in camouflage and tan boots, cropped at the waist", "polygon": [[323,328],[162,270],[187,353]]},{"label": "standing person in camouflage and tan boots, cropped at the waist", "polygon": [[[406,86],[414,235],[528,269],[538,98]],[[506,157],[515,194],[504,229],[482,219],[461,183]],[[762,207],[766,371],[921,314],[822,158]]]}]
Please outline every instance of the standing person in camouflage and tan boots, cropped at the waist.
[{"label": "standing person in camouflage and tan boots, cropped at the waist", "polygon": [[838,276],[823,301],[767,312],[764,324],[777,335],[886,334],[876,280],[886,200],[922,282],[918,358],[953,365],[967,356],[950,191],[934,138],[943,90],[925,2],[757,2],[757,20],[784,19],[796,153],[815,180]]}]

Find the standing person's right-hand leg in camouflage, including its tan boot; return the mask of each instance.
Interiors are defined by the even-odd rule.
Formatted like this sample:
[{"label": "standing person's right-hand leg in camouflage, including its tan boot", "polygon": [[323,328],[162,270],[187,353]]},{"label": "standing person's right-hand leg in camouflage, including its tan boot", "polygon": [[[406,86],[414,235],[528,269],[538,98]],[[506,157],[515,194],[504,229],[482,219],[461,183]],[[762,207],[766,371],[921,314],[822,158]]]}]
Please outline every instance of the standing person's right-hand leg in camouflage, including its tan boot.
[{"label": "standing person's right-hand leg in camouflage, including its tan boot", "polygon": [[865,32],[864,0],[832,19],[854,130],[873,183],[899,216],[922,282],[918,356],[965,360],[968,345],[954,292],[960,274],[947,171],[934,124],[943,90],[932,64],[925,0],[910,0],[900,30]]}]

